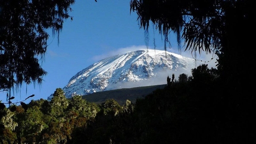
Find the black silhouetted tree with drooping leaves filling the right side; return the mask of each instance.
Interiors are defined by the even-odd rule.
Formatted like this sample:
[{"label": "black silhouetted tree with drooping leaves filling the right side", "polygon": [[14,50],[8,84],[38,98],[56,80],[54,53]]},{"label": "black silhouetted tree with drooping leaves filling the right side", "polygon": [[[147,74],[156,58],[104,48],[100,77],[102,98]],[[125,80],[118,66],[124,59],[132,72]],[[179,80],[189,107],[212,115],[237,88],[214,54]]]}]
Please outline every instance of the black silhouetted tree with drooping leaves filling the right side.
[{"label": "black silhouetted tree with drooping leaves filling the right side", "polygon": [[[221,127],[220,131],[229,133],[228,137],[234,137],[222,140],[220,136],[220,143],[245,143],[245,140],[247,143],[255,142],[255,129],[252,126],[255,125],[256,101],[253,96],[254,84],[251,83],[255,83],[256,79],[249,74],[250,68],[256,66],[256,49],[251,46],[253,37],[248,35],[248,32],[252,35],[255,33],[255,2],[130,1],[130,11],[136,11],[141,28],[146,32],[149,24],[152,24],[164,35],[165,42],[168,42],[169,33],[174,32],[177,34],[178,46],[181,39],[184,40],[186,51],[199,54],[203,51],[207,54],[216,52],[218,55],[217,74],[216,71],[208,71],[205,67],[207,65],[202,65],[193,71],[193,78],[189,79],[193,89],[201,90],[199,95],[193,94],[197,97],[196,104],[202,104],[199,116],[205,117],[202,115],[204,112],[216,108],[217,110],[213,111],[218,115],[217,125]],[[216,81],[208,83],[213,77],[217,78]]]}]

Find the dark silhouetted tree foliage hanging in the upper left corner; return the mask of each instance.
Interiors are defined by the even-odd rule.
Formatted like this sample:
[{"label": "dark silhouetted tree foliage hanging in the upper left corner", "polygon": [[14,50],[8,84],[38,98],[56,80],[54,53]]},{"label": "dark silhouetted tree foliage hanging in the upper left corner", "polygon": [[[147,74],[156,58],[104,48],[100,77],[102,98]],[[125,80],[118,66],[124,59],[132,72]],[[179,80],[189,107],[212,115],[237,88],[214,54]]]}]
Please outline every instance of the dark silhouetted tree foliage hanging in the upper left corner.
[{"label": "dark silhouetted tree foliage hanging in the upper left corner", "polygon": [[59,35],[74,0],[0,1],[0,89],[42,83],[48,33]]}]

